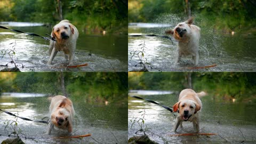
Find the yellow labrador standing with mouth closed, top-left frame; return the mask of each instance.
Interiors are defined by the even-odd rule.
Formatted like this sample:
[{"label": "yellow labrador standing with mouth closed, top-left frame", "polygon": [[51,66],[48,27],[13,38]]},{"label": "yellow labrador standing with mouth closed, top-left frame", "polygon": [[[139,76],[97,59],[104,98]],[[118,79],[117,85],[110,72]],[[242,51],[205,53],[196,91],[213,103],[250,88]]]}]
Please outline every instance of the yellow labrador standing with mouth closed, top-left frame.
[{"label": "yellow labrador standing with mouth closed, top-left frame", "polygon": [[63,51],[65,59],[68,60],[69,65],[73,65],[76,50],[76,39],[78,38],[78,35],[78,30],[68,20],[62,20],[60,23],[55,25],[52,29],[51,36],[55,38],[56,41],[50,40],[50,59],[47,62],[47,65],[52,64],[52,60],[58,51]]}]

